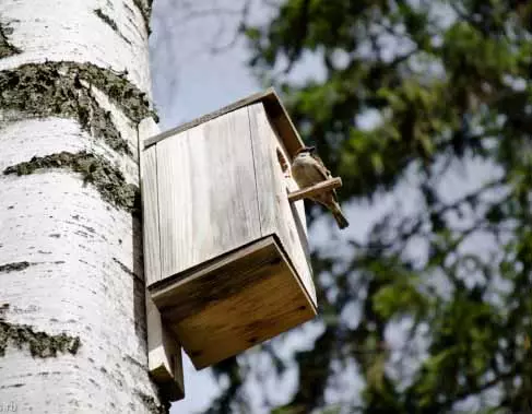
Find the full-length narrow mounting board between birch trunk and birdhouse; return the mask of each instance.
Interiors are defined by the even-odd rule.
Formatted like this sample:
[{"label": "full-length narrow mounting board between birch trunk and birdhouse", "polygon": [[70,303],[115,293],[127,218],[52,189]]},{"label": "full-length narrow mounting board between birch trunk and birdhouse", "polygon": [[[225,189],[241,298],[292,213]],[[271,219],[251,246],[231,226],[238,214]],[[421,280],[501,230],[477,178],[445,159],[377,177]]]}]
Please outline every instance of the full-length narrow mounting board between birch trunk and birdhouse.
[{"label": "full-length narrow mounting board between birch trunk and birdhouse", "polygon": [[[140,147],[142,142],[158,132],[153,119],[139,125]],[[155,147],[141,152],[140,158],[143,250],[146,286],[161,280],[161,245],[157,197],[157,159]],[[163,326],[161,314],[150,294],[145,294],[147,331],[147,369],[157,385],[172,401],[185,397],[181,346]]]}]

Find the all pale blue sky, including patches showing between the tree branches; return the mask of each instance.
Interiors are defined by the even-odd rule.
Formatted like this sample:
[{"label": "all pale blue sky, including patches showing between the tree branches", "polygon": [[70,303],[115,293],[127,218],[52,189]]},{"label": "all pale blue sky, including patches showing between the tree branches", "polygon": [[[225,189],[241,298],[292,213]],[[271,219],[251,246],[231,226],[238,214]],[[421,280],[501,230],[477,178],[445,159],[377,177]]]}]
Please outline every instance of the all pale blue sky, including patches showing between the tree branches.
[{"label": "all pale blue sky, including patches showing between the tree branches", "polygon": [[[243,0],[155,1],[150,47],[153,96],[161,116],[162,131],[262,90],[246,66],[249,58],[246,45],[244,42],[234,42],[241,3]],[[212,10],[215,12],[210,12]],[[260,22],[267,20],[271,13],[271,9],[256,5],[251,8],[249,19]],[[230,47],[226,47],[227,45]],[[317,59],[308,57],[304,64],[295,68],[292,76],[295,80],[303,80],[309,76],[319,79],[321,75],[322,71]],[[368,115],[360,119],[359,127],[370,128],[376,120]],[[475,163],[457,166],[453,174],[442,180],[441,191],[458,198],[474,189],[480,180],[484,181],[490,177],[493,177],[490,166]],[[319,246],[324,250],[328,246],[332,246],[341,257],[343,253],[341,240],[346,237],[364,239],[373,223],[385,212],[398,208],[404,211],[415,210],[419,199],[418,194],[411,189],[412,182],[406,180],[393,194],[377,199],[373,205],[354,203],[344,205],[344,212],[353,225],[341,235],[334,232],[334,226],[328,222],[330,218],[316,221],[309,233],[310,245]],[[478,245],[478,240],[474,243]],[[412,253],[418,255],[421,250],[414,248]],[[356,311],[350,318],[356,321]],[[388,340],[392,347],[394,343],[399,346],[401,332],[407,328],[395,327],[390,332]],[[274,341],[273,346],[286,357],[286,360],[289,360],[292,352],[308,347],[312,343],[309,339],[319,332],[319,326],[307,323],[297,334],[284,335],[281,341]],[[246,352],[246,355],[259,374],[261,367],[268,371],[269,362],[258,352],[251,350]],[[185,354],[184,363],[186,398],[173,405],[172,414],[192,414],[205,410],[218,391],[216,381],[209,370],[196,371]],[[263,378],[267,380],[261,383]],[[261,393],[258,391],[261,387],[265,388],[269,394],[274,395],[276,403],[283,403],[295,391],[296,378],[297,370],[294,366],[277,383],[268,380],[268,376],[257,375],[248,381],[246,391],[251,395],[251,400],[255,399],[255,404],[260,403]],[[356,379],[354,367],[350,367],[344,372],[343,381],[347,387],[348,397],[362,387]],[[328,391],[329,397],[335,401],[342,399],[341,393],[342,389]],[[256,405],[253,412],[261,414],[264,411]]]}]

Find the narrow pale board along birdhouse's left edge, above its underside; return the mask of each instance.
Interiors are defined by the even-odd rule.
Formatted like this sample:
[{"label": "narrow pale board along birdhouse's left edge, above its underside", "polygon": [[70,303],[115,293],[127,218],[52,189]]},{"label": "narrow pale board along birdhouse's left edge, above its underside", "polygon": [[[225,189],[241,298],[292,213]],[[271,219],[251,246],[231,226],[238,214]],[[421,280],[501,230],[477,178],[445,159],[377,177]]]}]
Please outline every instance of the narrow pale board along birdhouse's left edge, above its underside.
[{"label": "narrow pale board along birdhouse's left edge, above its underside", "polygon": [[[139,125],[139,140],[145,141],[157,131],[152,118]],[[146,285],[161,280],[161,238],[157,196],[157,156],[155,146],[142,151],[140,156],[144,273]]]}]

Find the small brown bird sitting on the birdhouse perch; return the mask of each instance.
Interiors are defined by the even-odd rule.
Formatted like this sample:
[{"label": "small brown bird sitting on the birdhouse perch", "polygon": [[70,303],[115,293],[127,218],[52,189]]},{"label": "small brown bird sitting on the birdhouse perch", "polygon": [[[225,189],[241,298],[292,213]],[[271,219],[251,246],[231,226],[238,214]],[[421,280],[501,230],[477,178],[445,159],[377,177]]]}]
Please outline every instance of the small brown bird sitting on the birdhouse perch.
[{"label": "small brown bird sitting on the birdhouse perch", "polygon": [[[291,169],[299,188],[307,188],[332,178],[331,171],[327,169],[321,158],[316,154],[315,146],[299,149],[294,156]],[[341,229],[350,225],[342,213],[334,189],[309,197],[309,199],[329,209]]]}]

